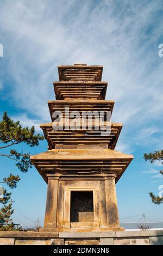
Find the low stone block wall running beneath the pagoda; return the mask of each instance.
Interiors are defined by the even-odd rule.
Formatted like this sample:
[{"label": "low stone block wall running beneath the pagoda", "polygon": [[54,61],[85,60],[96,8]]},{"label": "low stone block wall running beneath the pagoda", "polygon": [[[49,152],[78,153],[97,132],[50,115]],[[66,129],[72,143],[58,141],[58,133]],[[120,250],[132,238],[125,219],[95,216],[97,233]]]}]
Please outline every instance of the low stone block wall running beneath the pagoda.
[{"label": "low stone block wall running beneath the pagoda", "polygon": [[38,233],[1,231],[0,245],[163,245],[163,230]]}]

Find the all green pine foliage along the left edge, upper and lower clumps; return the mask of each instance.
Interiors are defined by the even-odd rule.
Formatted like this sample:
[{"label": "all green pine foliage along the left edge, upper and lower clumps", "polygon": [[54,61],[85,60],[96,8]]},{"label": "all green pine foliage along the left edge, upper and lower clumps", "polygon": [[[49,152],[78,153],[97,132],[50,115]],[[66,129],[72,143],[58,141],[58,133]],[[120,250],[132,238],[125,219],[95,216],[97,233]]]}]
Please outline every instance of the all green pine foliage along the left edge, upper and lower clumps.
[{"label": "all green pine foliage along the left edge, upper and lower clumps", "polygon": [[[8,159],[14,160],[15,165],[21,172],[27,172],[29,168],[32,168],[32,162],[30,161],[30,154],[17,152],[14,148],[15,145],[25,143],[29,147],[39,145],[39,142],[43,140],[43,136],[35,134],[35,128],[32,126],[22,127],[20,121],[13,121],[8,117],[7,112],[4,112],[2,121],[0,122],[0,156],[7,157]],[[8,152],[7,150],[10,148]],[[10,173],[8,177],[3,178],[0,183],[7,184],[10,188],[16,188],[17,182],[20,181],[20,176],[13,175]],[[11,193],[3,189],[3,193],[0,195],[0,203],[4,206],[0,209],[0,230],[11,230],[13,229],[13,223],[11,215],[14,210],[12,209]],[[8,204],[8,205],[7,205]],[[4,228],[2,223],[10,223]]]}]

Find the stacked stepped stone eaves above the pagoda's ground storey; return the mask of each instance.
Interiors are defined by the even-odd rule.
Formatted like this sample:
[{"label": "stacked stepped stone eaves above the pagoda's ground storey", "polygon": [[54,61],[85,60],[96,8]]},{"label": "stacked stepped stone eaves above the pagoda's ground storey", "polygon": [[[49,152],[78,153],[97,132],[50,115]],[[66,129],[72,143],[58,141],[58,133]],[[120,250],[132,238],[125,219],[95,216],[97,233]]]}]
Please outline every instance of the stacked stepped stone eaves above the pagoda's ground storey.
[{"label": "stacked stepped stone eaves above the pagoda's ground storey", "polygon": [[[87,66],[85,64],[74,66],[64,65],[58,66],[58,71],[60,81],[54,82],[54,92],[57,100],[48,101],[52,121],[54,121],[52,116],[53,112],[56,110],[63,111],[65,106],[69,107],[70,111],[77,110],[81,112],[87,109],[91,111],[97,109],[98,111],[104,110],[112,113],[114,101],[104,100],[108,83],[101,82],[103,66]],[[96,95],[97,97],[95,98],[91,98],[89,94],[90,86],[93,88],[93,85],[95,87],[103,85],[103,87],[99,88],[98,94]],[[81,86],[83,86],[83,88]],[[80,97],[80,94],[78,98],[74,97],[73,89],[74,92],[76,92],[76,90],[77,92],[79,90],[80,93],[83,92],[82,97]],[[65,94],[66,90],[68,92],[67,95]],[[114,169],[117,181],[133,159],[133,155],[123,154],[114,150],[122,129],[122,124],[111,123],[111,135],[108,137],[99,136],[98,139],[95,135],[94,137],[87,136],[85,139],[85,132],[89,133],[89,131],[54,131],[52,123],[41,124],[40,127],[47,139],[49,150],[45,153],[32,156],[31,160],[46,181],[46,175],[48,175],[49,172],[55,173],[60,170],[62,173],[62,168],[59,166],[55,168],[55,164],[54,166],[51,164],[53,168],[48,167],[47,169],[43,169],[46,164],[41,166],[40,163],[37,163],[37,160],[61,161],[64,160],[64,157],[67,157],[66,160],[71,159],[72,161],[77,161],[82,159],[86,161],[90,159],[96,162],[99,159],[104,161],[106,161],[106,159],[112,159],[117,162],[117,164],[114,164],[115,167],[118,166],[118,170]],[[91,138],[93,138],[92,143]],[[71,139],[73,141],[71,141]],[[120,164],[119,162],[122,160],[124,160],[124,162]],[[103,164],[104,163],[102,163],[102,168],[99,170],[100,172],[113,172],[111,165],[108,166],[108,168],[104,168]],[[76,167],[78,169],[80,164],[79,166],[76,164]],[[96,166],[92,166],[90,172],[95,172],[96,169]]]}]

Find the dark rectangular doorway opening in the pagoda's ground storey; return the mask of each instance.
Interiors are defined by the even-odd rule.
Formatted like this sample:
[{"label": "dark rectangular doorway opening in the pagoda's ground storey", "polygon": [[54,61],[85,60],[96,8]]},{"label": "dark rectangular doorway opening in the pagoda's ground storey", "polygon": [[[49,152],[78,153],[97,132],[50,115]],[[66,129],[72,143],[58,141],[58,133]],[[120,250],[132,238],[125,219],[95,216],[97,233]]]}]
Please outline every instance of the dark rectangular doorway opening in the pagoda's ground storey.
[{"label": "dark rectangular doorway opening in the pagoda's ground storey", "polygon": [[71,191],[70,222],[93,221],[93,191]]}]

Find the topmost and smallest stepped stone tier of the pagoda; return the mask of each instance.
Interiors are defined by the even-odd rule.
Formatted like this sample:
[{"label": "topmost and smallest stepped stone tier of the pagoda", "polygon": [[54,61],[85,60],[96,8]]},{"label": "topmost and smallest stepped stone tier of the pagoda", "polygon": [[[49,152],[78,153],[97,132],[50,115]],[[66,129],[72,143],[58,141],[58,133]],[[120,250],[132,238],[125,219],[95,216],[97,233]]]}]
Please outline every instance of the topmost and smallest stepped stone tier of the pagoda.
[{"label": "topmost and smallest stepped stone tier of the pagoda", "polygon": [[58,66],[59,81],[101,81],[103,66],[86,64]]}]

